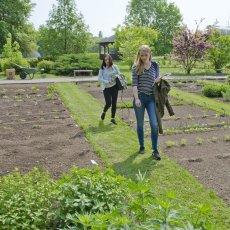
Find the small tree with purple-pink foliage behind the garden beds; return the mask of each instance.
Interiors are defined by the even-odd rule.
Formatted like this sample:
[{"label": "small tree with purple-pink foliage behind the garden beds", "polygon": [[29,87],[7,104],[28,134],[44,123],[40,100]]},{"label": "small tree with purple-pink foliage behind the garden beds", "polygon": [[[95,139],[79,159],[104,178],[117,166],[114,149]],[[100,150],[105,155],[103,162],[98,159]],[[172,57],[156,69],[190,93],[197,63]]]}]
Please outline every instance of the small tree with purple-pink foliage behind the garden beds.
[{"label": "small tree with purple-pink foliage behind the garden beds", "polygon": [[184,27],[182,32],[173,38],[173,56],[182,64],[187,74],[191,73],[197,61],[202,60],[212,46],[208,42],[211,31],[201,31],[198,26],[195,32]]}]

